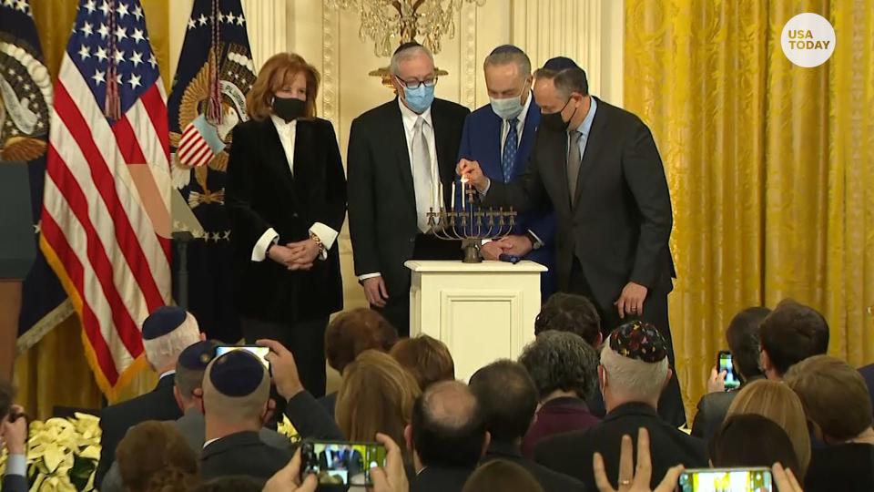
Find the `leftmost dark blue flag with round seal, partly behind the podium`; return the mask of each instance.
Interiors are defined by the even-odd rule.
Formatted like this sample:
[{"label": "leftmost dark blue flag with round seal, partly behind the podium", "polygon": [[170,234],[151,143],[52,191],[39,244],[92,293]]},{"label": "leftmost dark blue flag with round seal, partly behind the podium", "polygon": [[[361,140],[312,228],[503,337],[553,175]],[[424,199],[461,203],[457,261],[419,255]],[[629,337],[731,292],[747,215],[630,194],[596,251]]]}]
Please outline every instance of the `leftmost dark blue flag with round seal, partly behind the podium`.
[{"label": "leftmost dark blue flag with round seal, partly behind the podium", "polygon": [[[34,241],[39,241],[52,81],[26,0],[0,1],[0,67],[0,160],[28,163]],[[37,253],[22,292],[18,350],[39,342],[72,313],[55,272]]]}]

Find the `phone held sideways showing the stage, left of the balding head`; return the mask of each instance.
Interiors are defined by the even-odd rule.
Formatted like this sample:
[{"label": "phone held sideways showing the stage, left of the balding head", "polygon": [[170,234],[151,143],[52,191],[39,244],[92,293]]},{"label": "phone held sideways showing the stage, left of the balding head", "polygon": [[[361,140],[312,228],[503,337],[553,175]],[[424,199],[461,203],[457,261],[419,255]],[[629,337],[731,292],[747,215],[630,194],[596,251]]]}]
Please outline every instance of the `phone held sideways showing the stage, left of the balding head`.
[{"label": "phone held sideways showing the stage, left of the balding head", "polygon": [[378,443],[304,441],[300,477],[315,475],[320,485],[371,486],[371,468],[385,466],[385,446]]}]

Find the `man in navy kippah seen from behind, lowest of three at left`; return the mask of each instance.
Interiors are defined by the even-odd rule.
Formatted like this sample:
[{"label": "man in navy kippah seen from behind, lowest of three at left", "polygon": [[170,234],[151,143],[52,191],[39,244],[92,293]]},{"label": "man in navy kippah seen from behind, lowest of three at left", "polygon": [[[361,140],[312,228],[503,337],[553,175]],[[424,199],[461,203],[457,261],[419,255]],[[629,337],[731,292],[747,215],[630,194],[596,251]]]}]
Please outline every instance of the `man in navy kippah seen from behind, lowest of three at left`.
[{"label": "man in navy kippah seen from behind, lowest of three at left", "polygon": [[249,352],[235,350],[209,363],[203,377],[204,480],[242,475],[263,484],[288,464],[288,451],[270,447],[259,437],[270,411],[269,386],[264,364]]}]

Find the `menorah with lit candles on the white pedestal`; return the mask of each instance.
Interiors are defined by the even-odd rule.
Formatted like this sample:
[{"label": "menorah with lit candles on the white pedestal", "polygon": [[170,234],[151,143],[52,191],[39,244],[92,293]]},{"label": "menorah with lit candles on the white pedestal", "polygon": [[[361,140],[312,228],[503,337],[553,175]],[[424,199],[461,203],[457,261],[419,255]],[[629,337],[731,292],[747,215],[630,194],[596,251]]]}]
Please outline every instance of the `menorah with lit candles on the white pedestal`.
[{"label": "menorah with lit candles on the white pedestal", "polygon": [[432,208],[428,212],[428,226],[438,239],[462,241],[463,262],[480,263],[483,261],[483,256],[480,254],[483,241],[500,240],[508,236],[516,223],[516,212],[513,207],[510,207],[510,210],[503,210],[503,207],[498,210],[482,208],[474,210],[473,196],[476,190],[473,190],[473,187],[464,187],[463,184],[462,199],[463,195],[467,195],[467,203],[471,207],[467,210],[464,205],[465,200],[462,200],[462,210],[455,210],[454,185],[452,188],[452,209],[445,210],[441,207],[440,210],[434,211]]}]

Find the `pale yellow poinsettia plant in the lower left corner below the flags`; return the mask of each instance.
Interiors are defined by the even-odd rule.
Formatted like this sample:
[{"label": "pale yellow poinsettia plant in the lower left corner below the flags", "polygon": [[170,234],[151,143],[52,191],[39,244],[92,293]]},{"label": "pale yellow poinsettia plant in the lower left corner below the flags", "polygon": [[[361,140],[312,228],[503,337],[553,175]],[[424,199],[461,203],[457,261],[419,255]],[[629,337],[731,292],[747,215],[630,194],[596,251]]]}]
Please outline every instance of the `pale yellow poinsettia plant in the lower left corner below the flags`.
[{"label": "pale yellow poinsettia plant in the lower left corner below the flags", "polygon": [[[100,459],[100,420],[76,414],[30,423],[27,439],[27,481],[30,492],[94,490],[94,472]],[[5,471],[6,451],[0,455]]]}]

